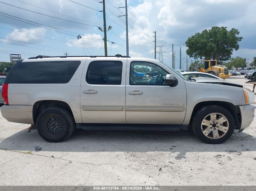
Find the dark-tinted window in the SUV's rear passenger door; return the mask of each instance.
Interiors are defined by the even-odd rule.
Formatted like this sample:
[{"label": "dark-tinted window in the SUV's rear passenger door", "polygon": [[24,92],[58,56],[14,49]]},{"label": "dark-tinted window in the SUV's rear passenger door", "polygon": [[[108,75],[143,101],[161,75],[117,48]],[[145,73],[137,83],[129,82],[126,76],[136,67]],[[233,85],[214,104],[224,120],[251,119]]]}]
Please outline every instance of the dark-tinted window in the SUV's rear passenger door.
[{"label": "dark-tinted window in the SUV's rear passenger door", "polygon": [[86,81],[88,84],[120,85],[122,80],[122,62],[95,61],[88,66]]}]

